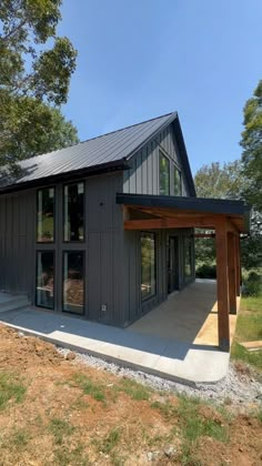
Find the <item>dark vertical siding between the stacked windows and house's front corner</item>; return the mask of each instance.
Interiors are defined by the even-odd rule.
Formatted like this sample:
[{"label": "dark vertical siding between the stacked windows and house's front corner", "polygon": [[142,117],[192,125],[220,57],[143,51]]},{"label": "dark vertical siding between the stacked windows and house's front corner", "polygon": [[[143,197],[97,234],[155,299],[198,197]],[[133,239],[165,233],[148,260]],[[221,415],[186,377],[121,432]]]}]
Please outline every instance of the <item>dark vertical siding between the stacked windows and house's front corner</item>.
[{"label": "dark vertical siding between the stacked windows and house's front corner", "polygon": [[123,216],[115,203],[121,190],[122,173],[87,181],[88,317],[115,325],[124,320]]}]

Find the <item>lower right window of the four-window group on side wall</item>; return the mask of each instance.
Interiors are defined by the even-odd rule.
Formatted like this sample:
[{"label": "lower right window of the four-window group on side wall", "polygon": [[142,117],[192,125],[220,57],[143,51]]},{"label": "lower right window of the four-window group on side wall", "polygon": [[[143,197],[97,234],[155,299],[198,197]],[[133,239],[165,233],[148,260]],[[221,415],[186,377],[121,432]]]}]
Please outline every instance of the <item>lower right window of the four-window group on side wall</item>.
[{"label": "lower right window of the four-window group on side wall", "polygon": [[83,252],[63,253],[63,311],[83,314]]}]

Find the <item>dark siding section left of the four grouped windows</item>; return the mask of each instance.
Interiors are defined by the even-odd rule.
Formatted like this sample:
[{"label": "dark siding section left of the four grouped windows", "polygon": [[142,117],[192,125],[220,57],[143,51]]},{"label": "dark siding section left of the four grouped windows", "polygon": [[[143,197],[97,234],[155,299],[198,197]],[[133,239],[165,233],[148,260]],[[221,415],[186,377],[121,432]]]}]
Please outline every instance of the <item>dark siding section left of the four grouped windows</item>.
[{"label": "dark siding section left of the four grouped windows", "polygon": [[34,192],[0,196],[0,290],[32,295]]}]

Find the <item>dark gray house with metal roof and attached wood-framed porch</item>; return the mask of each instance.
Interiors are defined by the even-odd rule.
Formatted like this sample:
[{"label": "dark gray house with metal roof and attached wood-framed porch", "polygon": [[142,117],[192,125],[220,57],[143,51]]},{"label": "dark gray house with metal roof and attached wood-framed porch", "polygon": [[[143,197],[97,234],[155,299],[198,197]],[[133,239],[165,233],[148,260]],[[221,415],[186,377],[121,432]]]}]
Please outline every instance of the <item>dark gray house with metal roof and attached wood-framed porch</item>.
[{"label": "dark gray house with metal roof and attached wood-framed porch", "polygon": [[0,291],[124,327],[194,280],[194,227],[215,230],[219,340],[228,348],[249,209],[195,196],[177,112],[2,176]]}]

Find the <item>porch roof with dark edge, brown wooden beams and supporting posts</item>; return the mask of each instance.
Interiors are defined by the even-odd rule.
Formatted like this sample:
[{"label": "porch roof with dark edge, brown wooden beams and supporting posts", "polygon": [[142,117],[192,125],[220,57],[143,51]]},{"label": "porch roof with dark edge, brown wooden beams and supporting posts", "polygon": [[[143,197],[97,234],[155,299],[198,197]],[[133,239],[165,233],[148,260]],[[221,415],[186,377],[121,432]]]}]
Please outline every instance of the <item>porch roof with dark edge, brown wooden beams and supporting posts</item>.
[{"label": "porch roof with dark edge, brown wooden beams and supporting posts", "polygon": [[[124,193],[117,194],[117,203],[123,207],[125,231],[196,227],[204,230],[203,235],[209,235],[206,233],[209,230],[214,232],[216,318],[213,315],[209,322],[215,322],[216,331],[215,333],[212,331],[213,336],[210,337],[210,341],[212,341],[212,345],[219,345],[221,350],[228,352],[230,350],[231,321],[234,321],[231,315],[236,315],[240,297],[240,235],[249,232],[250,207],[242,201]],[[189,293],[189,290],[187,288],[184,293]],[[159,308],[165,308],[165,303]],[[190,315],[187,315],[188,311],[184,310],[184,312],[183,320],[188,320],[188,327],[190,327]],[[157,310],[152,311],[151,315],[155,315],[155,313]],[[144,320],[147,318],[150,320],[150,317],[144,317]],[[161,313],[159,325],[162,320],[164,317]],[[139,323],[133,324],[133,326]],[[205,323],[205,325],[209,324]],[[170,336],[174,336],[174,334]],[[195,338],[200,338],[200,335],[195,335]]]}]

